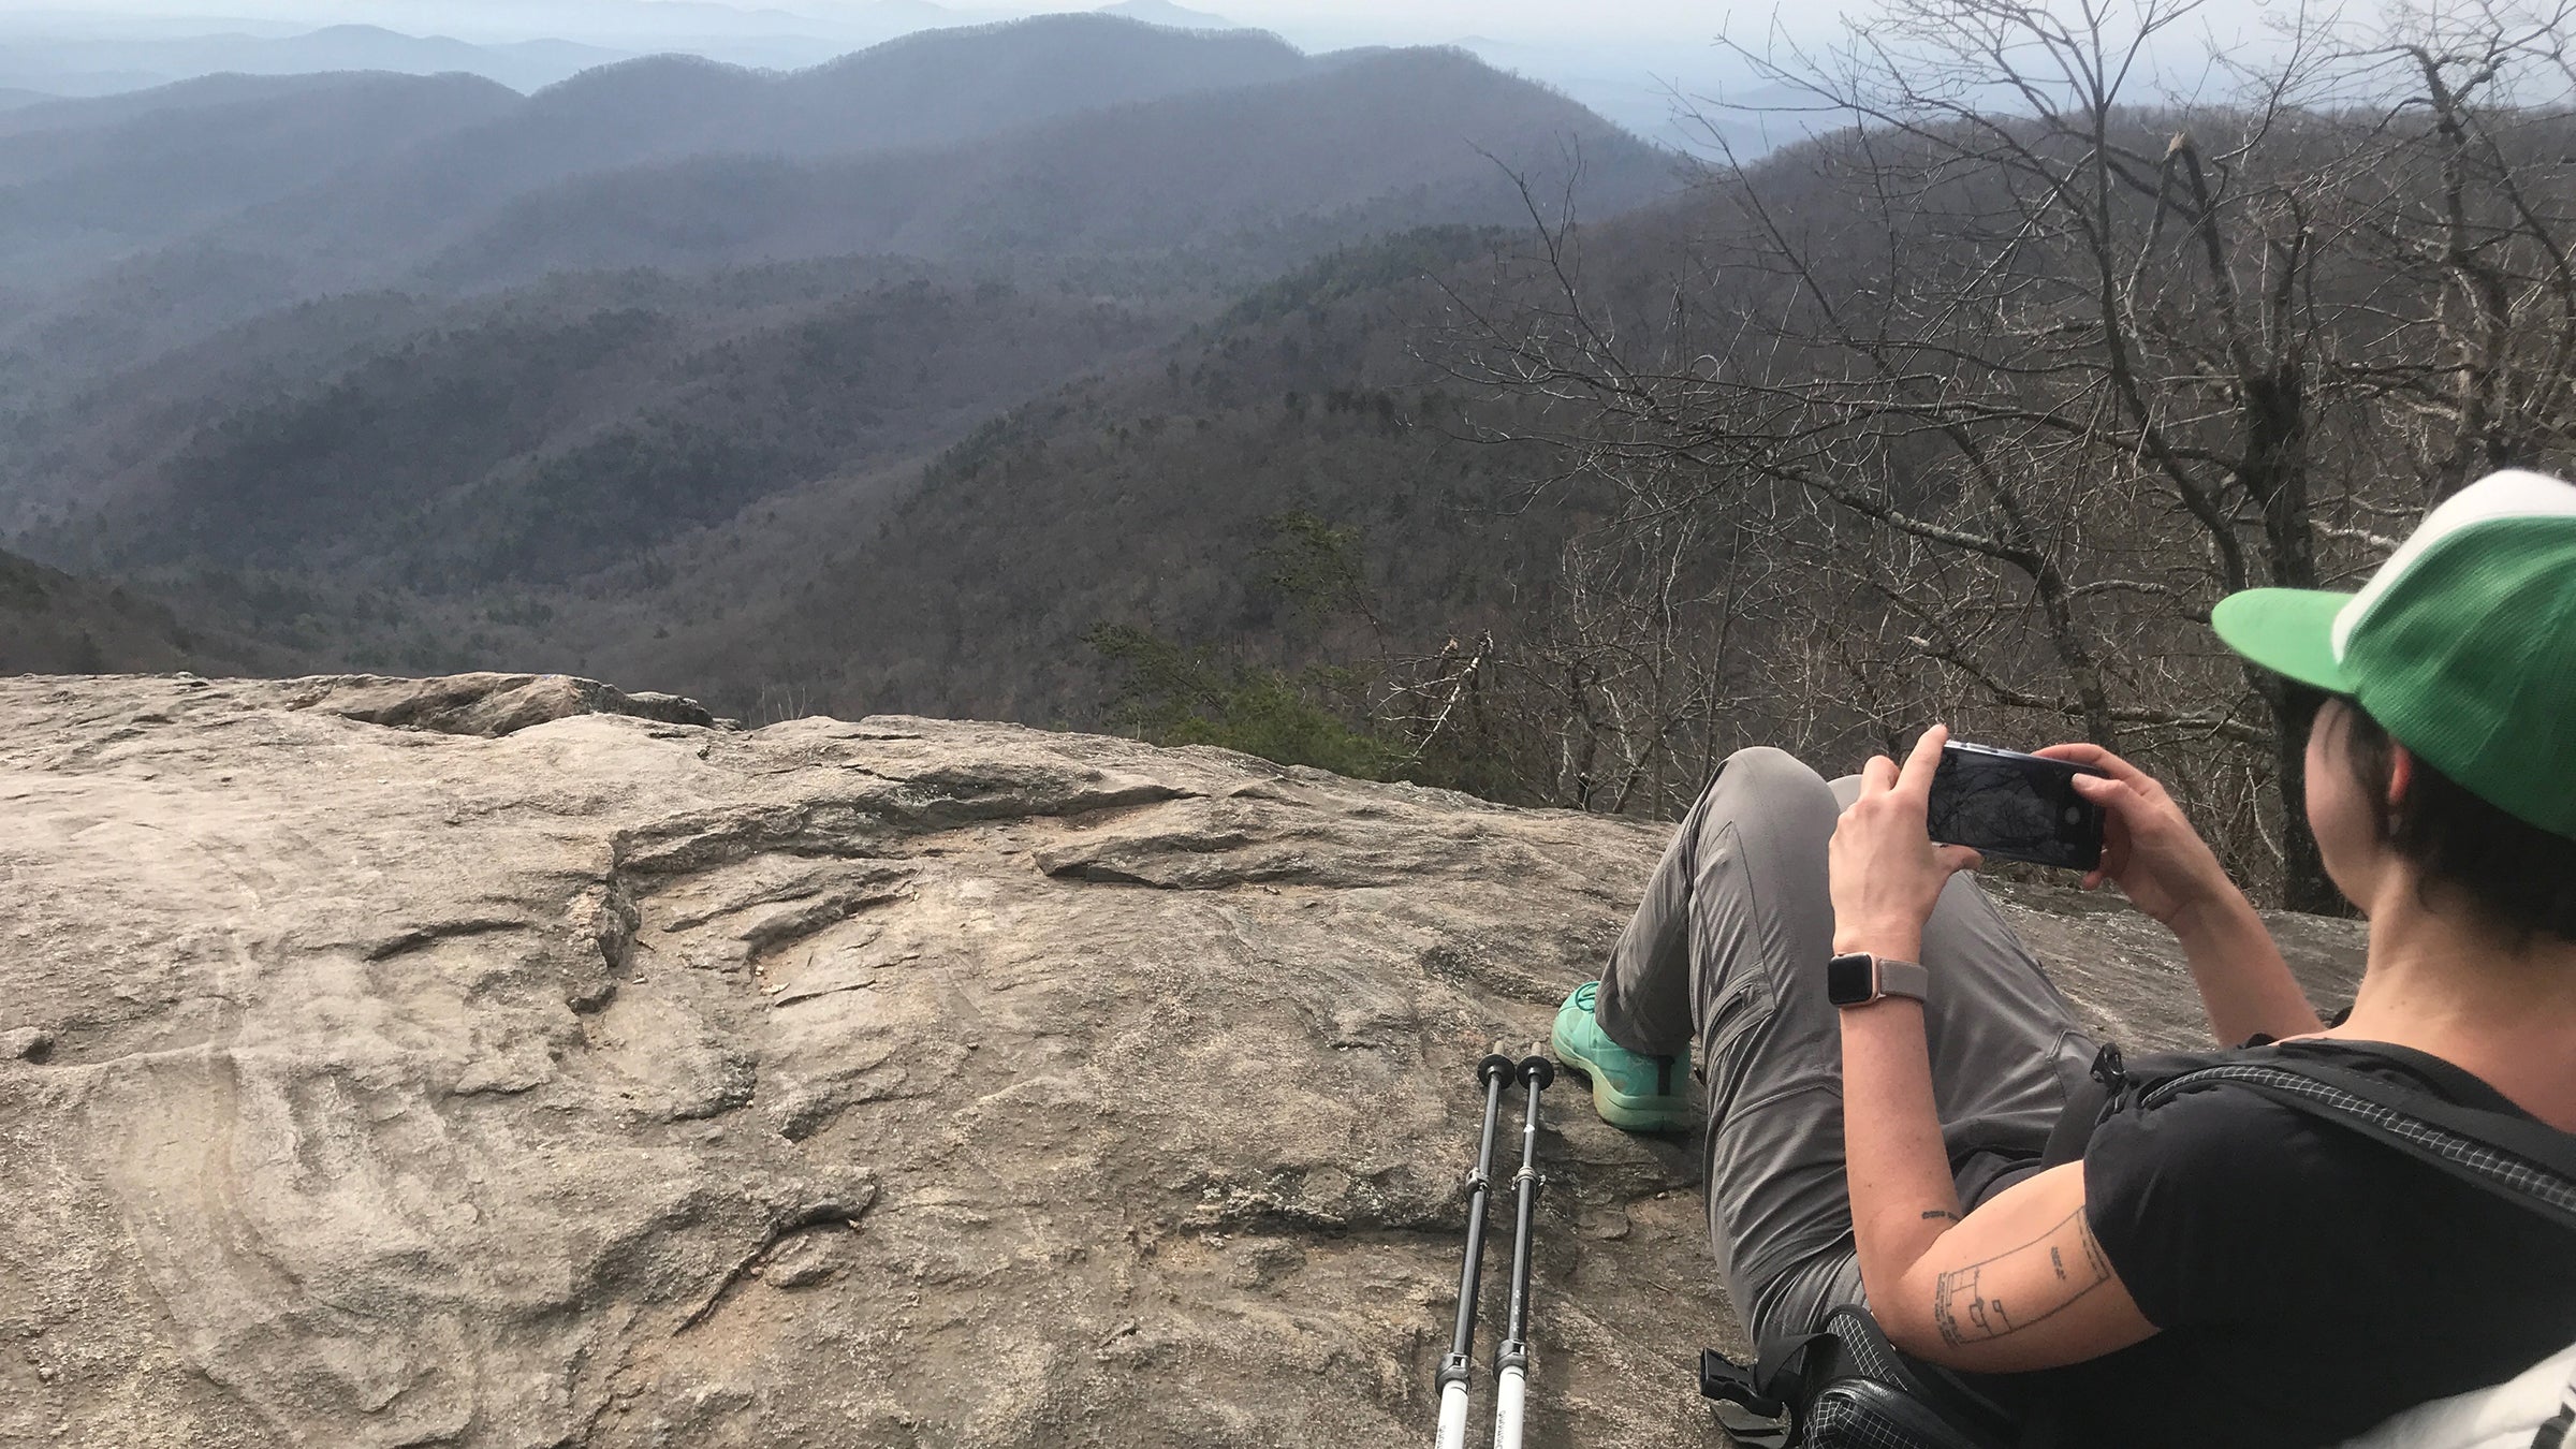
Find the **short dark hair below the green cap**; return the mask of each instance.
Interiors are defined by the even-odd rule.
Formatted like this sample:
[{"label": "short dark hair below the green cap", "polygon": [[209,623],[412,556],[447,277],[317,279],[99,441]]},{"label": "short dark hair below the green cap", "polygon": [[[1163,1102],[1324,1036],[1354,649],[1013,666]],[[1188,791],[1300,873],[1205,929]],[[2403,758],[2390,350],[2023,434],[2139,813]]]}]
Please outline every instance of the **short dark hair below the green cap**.
[{"label": "short dark hair below the green cap", "polygon": [[2439,884],[2468,900],[2517,944],[2532,936],[2576,941],[2576,841],[2506,815],[2421,755],[2406,799],[2391,804],[2388,771],[2396,763],[2388,730],[2352,699],[2336,696],[2344,717],[2344,758],[2380,825],[2380,841]]}]

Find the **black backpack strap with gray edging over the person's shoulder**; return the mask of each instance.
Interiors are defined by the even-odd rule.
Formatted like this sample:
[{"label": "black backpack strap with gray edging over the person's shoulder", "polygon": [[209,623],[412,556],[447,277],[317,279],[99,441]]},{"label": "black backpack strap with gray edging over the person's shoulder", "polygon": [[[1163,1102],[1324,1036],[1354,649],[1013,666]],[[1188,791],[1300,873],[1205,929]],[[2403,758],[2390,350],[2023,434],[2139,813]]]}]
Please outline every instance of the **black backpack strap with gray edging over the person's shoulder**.
[{"label": "black backpack strap with gray edging over the person's shoulder", "polygon": [[2576,1230],[2576,1137],[2545,1122],[2463,1106],[2367,1073],[2287,1060],[2197,1067],[2151,1088],[2141,1106],[2218,1083],[2257,1091],[2308,1116],[2388,1142],[2452,1178]]}]

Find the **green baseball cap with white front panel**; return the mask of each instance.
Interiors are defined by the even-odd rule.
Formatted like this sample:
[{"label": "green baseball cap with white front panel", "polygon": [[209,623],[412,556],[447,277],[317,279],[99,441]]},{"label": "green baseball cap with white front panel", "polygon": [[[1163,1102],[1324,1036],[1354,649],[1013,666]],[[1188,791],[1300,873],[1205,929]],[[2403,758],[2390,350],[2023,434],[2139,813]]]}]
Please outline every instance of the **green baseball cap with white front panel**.
[{"label": "green baseball cap with white front panel", "polygon": [[2257,665],[2357,699],[2478,799],[2576,835],[2576,485],[2486,474],[2360,593],[2249,588],[2210,624]]}]

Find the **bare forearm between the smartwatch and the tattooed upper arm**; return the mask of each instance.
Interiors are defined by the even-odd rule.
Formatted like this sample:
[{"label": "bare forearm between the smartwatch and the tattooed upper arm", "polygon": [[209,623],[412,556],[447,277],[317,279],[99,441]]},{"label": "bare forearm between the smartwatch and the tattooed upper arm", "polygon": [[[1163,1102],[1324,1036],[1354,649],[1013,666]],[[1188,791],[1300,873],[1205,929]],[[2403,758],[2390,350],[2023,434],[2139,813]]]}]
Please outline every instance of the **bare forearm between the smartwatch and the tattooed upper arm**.
[{"label": "bare forearm between the smartwatch and the tattooed upper arm", "polygon": [[1842,1013],[1842,1134],[1860,1281],[1888,1302],[1958,1222],[1922,1003],[1886,998]]}]

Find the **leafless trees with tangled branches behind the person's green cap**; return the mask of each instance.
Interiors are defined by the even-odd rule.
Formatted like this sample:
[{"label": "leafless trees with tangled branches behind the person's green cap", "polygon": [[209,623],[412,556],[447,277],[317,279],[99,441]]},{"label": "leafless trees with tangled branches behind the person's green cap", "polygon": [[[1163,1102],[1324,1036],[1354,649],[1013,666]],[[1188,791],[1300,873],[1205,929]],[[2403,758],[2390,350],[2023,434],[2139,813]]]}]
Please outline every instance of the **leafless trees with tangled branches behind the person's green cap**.
[{"label": "leafless trees with tangled branches behind the person's green cap", "polygon": [[2146,755],[2231,864],[2331,908],[2318,701],[2208,608],[2349,578],[2470,472],[2566,451],[2566,13],[2298,21],[2179,103],[2151,88],[2210,44],[2195,3],[1891,0],[1744,52],[1814,134],[1752,162],[1708,126],[1656,289],[1533,206],[1530,266],[1453,297],[1453,366],[1540,400],[1510,431],[1631,523],[1759,518],[1808,712]]}]

